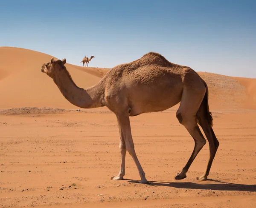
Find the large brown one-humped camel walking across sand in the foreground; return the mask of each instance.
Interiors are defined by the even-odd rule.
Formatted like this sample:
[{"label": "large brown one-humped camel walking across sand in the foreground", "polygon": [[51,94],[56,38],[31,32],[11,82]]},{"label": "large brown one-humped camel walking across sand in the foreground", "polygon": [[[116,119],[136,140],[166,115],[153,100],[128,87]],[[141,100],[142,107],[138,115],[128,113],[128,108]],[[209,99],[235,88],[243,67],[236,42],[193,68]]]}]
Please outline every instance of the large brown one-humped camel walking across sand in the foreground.
[{"label": "large brown one-humped camel walking across sand in the foreground", "polygon": [[162,55],[149,52],[138,60],[113,67],[99,83],[83,89],[72,80],[64,66],[66,59],[44,63],[41,71],[51,77],[63,96],[80,108],[106,106],[116,115],[120,142],[121,166],[112,180],[125,176],[126,151],[133,158],[141,183],[148,183],[145,172],[134,150],[130,116],[163,111],[180,102],[176,117],[195,141],[194,150],[186,165],[175,179],[186,178],[186,172],[206,144],[198,124],[209,142],[209,160],[206,171],[198,180],[207,180],[219,142],[212,130],[208,88],[204,80],[190,67],[170,63]]}]

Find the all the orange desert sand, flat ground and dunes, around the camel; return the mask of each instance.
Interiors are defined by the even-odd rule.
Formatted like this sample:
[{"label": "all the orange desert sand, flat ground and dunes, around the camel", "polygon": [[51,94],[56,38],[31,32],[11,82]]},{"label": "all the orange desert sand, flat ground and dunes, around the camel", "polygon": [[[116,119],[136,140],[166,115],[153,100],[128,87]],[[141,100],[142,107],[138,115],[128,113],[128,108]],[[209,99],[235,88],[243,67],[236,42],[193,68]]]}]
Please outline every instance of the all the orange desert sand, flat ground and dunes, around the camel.
[{"label": "all the orange desert sand, flat ground and dunes, around the camel", "polygon": [[[105,107],[70,104],[40,71],[51,57],[0,47],[0,207],[256,207],[256,79],[198,72],[209,88],[220,142],[207,181],[196,177],[205,171],[208,144],[187,178],[174,179],[194,147],[175,117],[178,105],[131,117],[137,156],[150,182],[145,185],[129,154],[125,180],[111,180],[120,165],[116,117]],[[82,88],[109,70],[68,61]]]}]

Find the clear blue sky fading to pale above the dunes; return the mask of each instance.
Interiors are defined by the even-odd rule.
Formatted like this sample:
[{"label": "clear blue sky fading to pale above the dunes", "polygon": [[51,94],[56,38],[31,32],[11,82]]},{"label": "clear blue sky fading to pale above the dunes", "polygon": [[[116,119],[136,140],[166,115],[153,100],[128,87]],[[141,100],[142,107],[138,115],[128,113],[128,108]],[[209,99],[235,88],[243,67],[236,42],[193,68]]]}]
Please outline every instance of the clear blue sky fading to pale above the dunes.
[{"label": "clear blue sky fading to pale above the dunes", "polygon": [[256,78],[256,0],[3,0],[0,46],[112,68],[149,51]]}]

